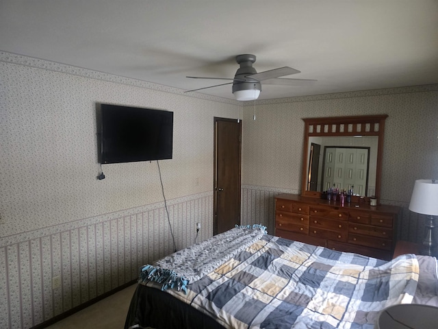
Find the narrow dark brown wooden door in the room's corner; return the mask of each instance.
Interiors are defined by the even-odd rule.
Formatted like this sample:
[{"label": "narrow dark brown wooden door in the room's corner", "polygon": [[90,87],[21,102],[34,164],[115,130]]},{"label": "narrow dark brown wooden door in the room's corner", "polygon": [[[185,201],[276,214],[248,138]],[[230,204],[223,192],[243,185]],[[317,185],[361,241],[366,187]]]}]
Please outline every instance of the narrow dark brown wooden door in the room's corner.
[{"label": "narrow dark brown wooden door in the room's corner", "polygon": [[213,234],[240,225],[242,121],[214,118]]}]

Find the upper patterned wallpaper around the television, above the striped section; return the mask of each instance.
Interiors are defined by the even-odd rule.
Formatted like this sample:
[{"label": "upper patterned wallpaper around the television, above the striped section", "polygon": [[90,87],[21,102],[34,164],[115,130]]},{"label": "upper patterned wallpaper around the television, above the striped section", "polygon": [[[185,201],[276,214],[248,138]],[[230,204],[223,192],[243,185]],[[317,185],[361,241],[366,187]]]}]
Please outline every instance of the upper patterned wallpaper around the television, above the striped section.
[{"label": "upper patterned wallpaper around the television, above the striped section", "polygon": [[173,158],[160,161],[166,197],[211,191],[213,118],[236,106],[23,65],[1,71],[1,236],[162,201],[156,162],[104,164],[96,180],[96,103],[174,111]]}]

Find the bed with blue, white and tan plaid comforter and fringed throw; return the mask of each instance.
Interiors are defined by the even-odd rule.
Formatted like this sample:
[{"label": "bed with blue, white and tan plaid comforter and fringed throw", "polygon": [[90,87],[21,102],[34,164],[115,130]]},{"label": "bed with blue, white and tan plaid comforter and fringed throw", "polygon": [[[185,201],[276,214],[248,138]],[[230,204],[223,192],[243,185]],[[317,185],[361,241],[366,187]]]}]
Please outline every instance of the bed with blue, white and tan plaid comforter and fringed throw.
[{"label": "bed with blue, white and tan plaid comforter and fringed throw", "polygon": [[239,227],[142,267],[125,328],[365,329],[437,295],[433,257],[385,261]]}]

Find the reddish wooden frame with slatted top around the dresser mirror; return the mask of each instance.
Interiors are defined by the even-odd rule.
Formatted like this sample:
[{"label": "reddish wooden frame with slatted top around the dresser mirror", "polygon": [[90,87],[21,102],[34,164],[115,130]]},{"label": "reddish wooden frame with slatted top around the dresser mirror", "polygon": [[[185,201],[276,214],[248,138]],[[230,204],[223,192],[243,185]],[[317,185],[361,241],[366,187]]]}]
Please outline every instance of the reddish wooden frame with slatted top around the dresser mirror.
[{"label": "reddish wooden frame with slatted top around the dresser mirror", "polygon": [[361,115],[352,117],[305,118],[304,148],[302,156],[301,195],[305,197],[321,197],[321,192],[307,191],[307,171],[309,166],[309,137],[318,136],[378,136],[376,160],[377,199],[381,194],[383,136],[387,114]]}]

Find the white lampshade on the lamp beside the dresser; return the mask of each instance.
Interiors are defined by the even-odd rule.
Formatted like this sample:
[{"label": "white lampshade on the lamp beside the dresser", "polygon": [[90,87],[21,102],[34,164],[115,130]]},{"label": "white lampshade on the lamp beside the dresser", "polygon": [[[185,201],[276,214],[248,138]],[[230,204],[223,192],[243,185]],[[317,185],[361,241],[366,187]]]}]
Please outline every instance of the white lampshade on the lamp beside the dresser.
[{"label": "white lampshade on the lamp beside the dresser", "polygon": [[415,180],[409,210],[423,215],[438,215],[438,183]]}]

